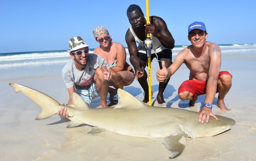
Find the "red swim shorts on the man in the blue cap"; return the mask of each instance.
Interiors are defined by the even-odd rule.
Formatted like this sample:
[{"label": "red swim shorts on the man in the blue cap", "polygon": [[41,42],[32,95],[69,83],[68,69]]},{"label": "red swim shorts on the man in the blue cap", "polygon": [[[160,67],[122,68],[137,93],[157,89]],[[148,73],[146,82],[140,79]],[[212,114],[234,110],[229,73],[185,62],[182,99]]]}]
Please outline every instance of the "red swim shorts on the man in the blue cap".
[{"label": "red swim shorts on the man in the blue cap", "polygon": [[[228,71],[221,71],[219,73],[218,80],[219,80],[220,76],[224,75],[224,74],[231,75]],[[232,75],[231,75],[231,77],[232,77]],[[197,96],[204,95],[206,93],[206,84],[207,84],[207,82],[200,81],[200,80],[185,80],[181,84],[178,94],[188,91],[193,94],[193,97],[195,99]],[[219,92],[218,89],[216,89],[216,93],[218,93],[218,92]]]}]

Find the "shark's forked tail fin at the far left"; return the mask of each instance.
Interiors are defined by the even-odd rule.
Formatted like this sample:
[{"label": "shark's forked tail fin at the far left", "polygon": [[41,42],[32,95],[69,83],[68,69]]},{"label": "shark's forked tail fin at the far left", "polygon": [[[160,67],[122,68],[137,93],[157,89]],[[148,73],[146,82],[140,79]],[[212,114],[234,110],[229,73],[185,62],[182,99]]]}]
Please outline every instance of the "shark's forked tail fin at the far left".
[{"label": "shark's forked tail fin at the far left", "polygon": [[21,91],[24,95],[28,96],[42,108],[42,112],[37,116],[36,120],[42,120],[51,117],[52,115],[56,114],[62,106],[52,97],[47,96],[32,88],[17,83],[9,83],[9,85],[15,88],[16,93]]}]

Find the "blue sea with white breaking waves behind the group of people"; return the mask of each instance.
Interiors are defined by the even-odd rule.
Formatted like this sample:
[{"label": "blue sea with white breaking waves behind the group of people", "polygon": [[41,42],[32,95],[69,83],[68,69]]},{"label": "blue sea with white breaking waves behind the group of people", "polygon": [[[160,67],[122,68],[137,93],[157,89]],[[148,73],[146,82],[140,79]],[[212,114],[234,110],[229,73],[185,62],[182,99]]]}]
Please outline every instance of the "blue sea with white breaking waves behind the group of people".
[{"label": "blue sea with white breaking waves behind the group of people", "polygon": [[[187,46],[175,46],[172,49],[173,57]],[[222,55],[256,54],[256,44],[227,44],[219,46],[221,47]],[[130,63],[128,49],[125,49],[127,62]],[[94,49],[90,49],[90,53],[93,53],[93,51]],[[62,75],[62,68],[70,59],[66,50],[0,53],[0,82],[28,78],[59,77]],[[155,60],[152,63],[156,63]]]}]

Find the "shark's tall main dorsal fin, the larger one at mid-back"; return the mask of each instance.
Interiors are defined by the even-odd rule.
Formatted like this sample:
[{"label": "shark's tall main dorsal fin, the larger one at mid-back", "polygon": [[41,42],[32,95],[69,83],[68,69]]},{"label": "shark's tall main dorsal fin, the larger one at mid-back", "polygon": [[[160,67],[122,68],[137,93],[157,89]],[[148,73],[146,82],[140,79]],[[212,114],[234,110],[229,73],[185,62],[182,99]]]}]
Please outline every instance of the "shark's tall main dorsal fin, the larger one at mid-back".
[{"label": "shark's tall main dorsal fin, the larger one at mid-back", "polygon": [[148,106],[122,89],[118,89],[117,94],[118,104],[115,108],[138,109]]}]

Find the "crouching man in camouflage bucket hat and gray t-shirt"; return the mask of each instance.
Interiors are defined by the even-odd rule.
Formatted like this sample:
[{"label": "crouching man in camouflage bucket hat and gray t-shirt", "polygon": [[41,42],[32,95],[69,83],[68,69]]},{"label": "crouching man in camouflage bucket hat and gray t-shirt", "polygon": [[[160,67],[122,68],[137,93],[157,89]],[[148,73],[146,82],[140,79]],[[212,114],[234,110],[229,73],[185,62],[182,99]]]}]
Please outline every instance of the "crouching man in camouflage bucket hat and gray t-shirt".
[{"label": "crouching man in camouflage bucket hat and gray t-shirt", "polygon": [[[123,88],[123,78],[111,69],[102,57],[89,54],[89,46],[79,36],[69,40],[70,50],[67,50],[67,52],[69,52],[72,60],[62,69],[63,79],[69,93],[67,105],[73,103],[72,95],[73,92],[76,92],[88,106],[93,99],[100,96],[101,107],[108,107],[106,97],[110,80],[119,88]],[[64,108],[60,109],[57,114],[68,117]]]}]

